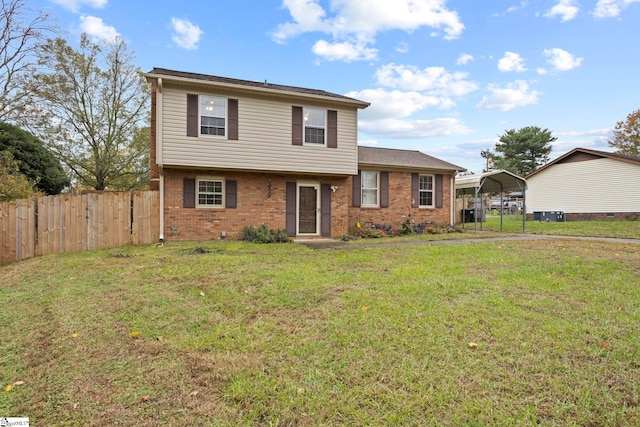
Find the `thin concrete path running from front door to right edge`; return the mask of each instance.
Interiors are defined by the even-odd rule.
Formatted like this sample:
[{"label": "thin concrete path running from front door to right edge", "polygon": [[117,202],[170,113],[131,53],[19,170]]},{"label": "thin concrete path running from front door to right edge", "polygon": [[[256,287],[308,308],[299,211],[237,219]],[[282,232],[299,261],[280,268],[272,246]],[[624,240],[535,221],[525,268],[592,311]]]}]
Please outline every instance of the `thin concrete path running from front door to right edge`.
[{"label": "thin concrete path running from front door to right edge", "polygon": [[629,243],[632,245],[640,245],[640,239],[618,239],[613,237],[581,237],[581,236],[558,236],[546,234],[511,234],[501,237],[475,237],[468,239],[443,239],[443,240],[421,240],[413,242],[397,242],[393,238],[385,238],[384,242],[377,243],[358,243],[349,244],[342,240],[336,239],[294,239],[295,243],[305,245],[311,249],[357,249],[371,248],[380,246],[420,246],[420,245],[444,245],[453,243],[482,243],[482,242],[500,242],[500,241],[520,241],[520,240],[584,240],[591,242],[612,242],[612,243]]}]

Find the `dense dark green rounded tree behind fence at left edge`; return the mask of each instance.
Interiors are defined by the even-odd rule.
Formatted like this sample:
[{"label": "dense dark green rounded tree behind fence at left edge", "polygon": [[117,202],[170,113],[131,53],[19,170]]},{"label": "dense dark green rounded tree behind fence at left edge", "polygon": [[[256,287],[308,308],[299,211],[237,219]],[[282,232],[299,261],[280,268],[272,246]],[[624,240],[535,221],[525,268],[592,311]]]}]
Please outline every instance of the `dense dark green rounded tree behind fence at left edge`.
[{"label": "dense dark green rounded tree behind fence at left edge", "polygon": [[13,155],[18,169],[45,194],[58,194],[70,185],[60,161],[31,133],[0,122],[0,151]]}]

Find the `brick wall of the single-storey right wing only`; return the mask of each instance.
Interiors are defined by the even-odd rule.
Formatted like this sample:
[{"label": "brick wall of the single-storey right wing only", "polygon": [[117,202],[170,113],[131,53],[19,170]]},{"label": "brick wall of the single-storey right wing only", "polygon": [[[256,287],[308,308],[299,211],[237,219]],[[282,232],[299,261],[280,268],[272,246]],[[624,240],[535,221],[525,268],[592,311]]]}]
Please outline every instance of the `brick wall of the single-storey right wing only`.
[{"label": "brick wall of the single-storey right wing only", "polygon": [[[349,180],[351,186],[351,180]],[[385,224],[400,230],[402,223],[409,219],[413,224],[435,222],[449,224],[451,203],[451,177],[444,175],[442,183],[442,208],[413,208],[411,195],[411,173],[389,172],[389,207],[386,208],[349,208],[349,230],[353,230],[357,221],[365,224]],[[351,188],[350,188],[351,191]],[[435,197],[435,194],[434,194]],[[351,199],[350,199],[351,200]]]}]

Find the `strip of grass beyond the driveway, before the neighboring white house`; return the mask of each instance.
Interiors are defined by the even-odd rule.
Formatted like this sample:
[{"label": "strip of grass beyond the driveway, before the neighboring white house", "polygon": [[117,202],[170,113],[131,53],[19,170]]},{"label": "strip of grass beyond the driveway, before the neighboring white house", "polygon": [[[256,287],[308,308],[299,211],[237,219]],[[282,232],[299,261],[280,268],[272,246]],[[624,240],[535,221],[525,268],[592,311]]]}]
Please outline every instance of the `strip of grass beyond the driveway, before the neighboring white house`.
[{"label": "strip of grass beyond the driveway, before the neighboring white house", "polygon": [[[475,230],[475,223],[465,224],[465,230]],[[487,215],[486,221],[478,223],[478,230],[500,231],[500,216]],[[522,232],[522,215],[504,215],[502,230]],[[525,232],[560,236],[617,237],[640,239],[640,221],[526,221]]]}]

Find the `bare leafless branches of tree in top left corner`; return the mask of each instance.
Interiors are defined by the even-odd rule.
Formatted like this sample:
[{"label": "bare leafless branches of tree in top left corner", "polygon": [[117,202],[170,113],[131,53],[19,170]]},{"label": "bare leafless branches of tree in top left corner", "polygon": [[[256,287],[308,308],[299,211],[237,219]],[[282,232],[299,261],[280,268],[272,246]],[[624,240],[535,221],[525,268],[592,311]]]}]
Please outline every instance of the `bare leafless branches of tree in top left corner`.
[{"label": "bare leafless branches of tree in top left corner", "polygon": [[49,15],[25,0],[0,0],[0,120],[15,121],[31,100],[25,79],[36,70],[37,53],[55,31]]}]

